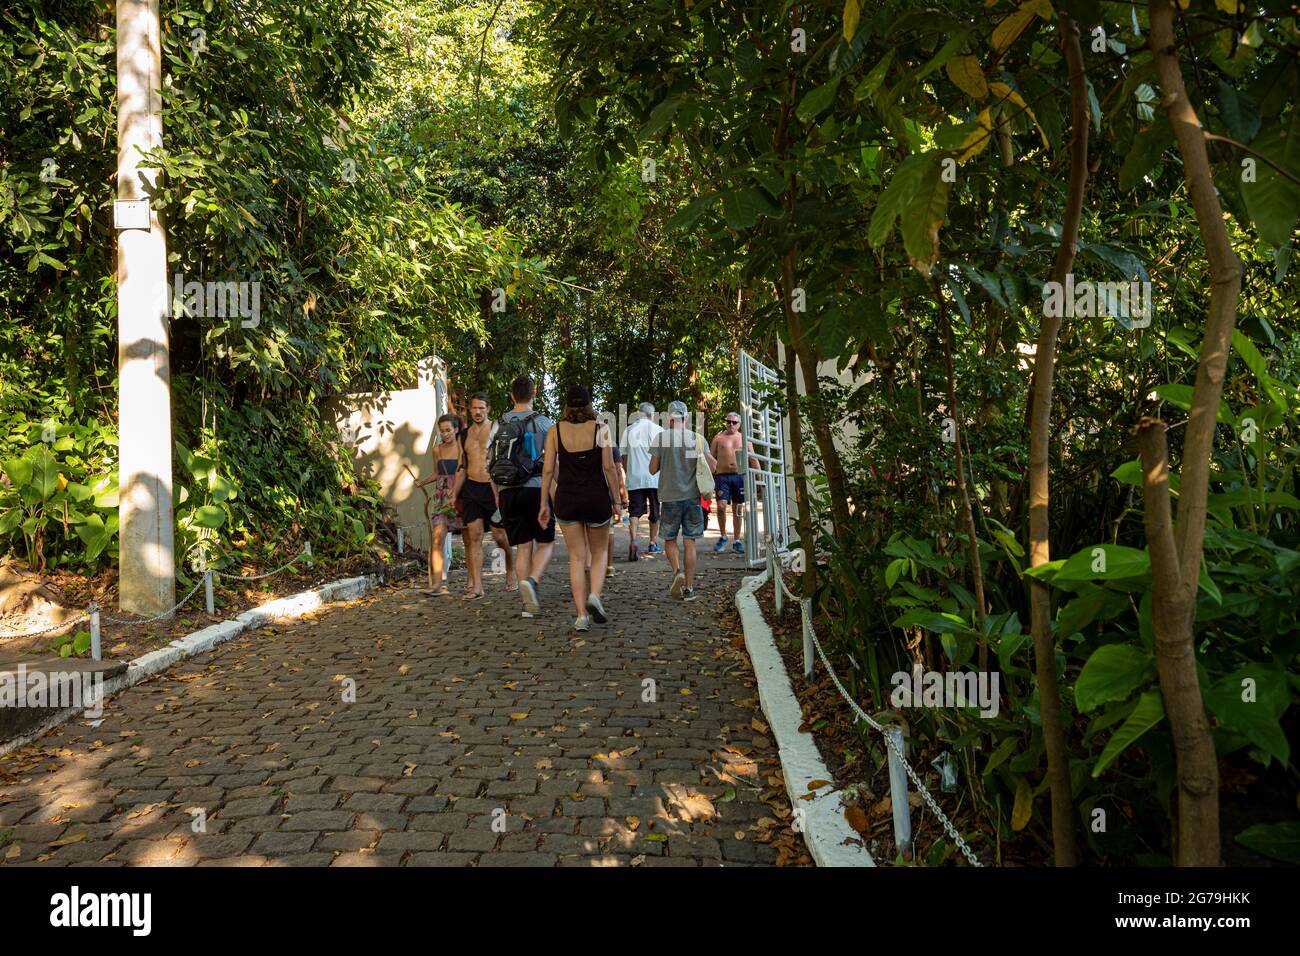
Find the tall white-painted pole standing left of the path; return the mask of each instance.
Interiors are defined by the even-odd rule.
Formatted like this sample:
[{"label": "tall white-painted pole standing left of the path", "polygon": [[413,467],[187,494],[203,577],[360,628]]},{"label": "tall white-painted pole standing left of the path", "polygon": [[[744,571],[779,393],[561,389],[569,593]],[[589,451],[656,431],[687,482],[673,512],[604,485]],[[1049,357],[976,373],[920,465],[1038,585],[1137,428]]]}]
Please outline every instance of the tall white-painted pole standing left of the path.
[{"label": "tall white-painted pole standing left of the path", "polygon": [[[159,0],[117,0],[117,198],[151,200],[157,170],[142,151],[162,146]],[[161,614],[176,604],[172,523],[172,367],[166,235],[150,202],[148,228],[117,233],[118,605]]]}]

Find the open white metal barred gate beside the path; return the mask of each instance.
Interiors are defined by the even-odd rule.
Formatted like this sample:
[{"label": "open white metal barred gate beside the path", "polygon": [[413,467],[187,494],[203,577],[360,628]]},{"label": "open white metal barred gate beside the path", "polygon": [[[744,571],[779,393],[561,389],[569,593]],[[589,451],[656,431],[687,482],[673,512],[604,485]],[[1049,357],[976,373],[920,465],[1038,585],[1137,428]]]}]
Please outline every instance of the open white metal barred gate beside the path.
[{"label": "open white metal barred gate beside the path", "polygon": [[[763,397],[775,386],[776,372],[749,352],[740,354],[740,423],[745,447],[758,459],[758,471],[745,468],[745,559],[750,567],[767,562],[767,536],[772,549],[785,554],[789,548],[789,512],[785,507],[785,429],[779,408]],[[745,460],[745,459],[741,459]],[[748,462],[746,462],[748,464]],[[762,489],[762,496],[757,494]],[[762,503],[762,523],[759,505]]]}]

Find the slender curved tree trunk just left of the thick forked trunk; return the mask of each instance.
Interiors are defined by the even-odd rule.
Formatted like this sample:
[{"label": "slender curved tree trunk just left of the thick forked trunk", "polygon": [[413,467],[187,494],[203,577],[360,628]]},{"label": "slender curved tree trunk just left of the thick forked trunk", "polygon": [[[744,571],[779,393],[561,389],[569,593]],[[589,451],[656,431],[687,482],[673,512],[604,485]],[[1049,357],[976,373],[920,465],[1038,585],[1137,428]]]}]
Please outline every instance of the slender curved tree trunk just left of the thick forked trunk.
[{"label": "slender curved tree trunk just left of the thick forked trunk", "polygon": [[[1083,193],[1088,185],[1088,91],[1079,48],[1079,30],[1070,16],[1061,13],[1061,46],[1070,70],[1070,191],[1061,222],[1061,245],[1052,264],[1052,281],[1065,282],[1074,265],[1074,247],[1083,216]],[[1030,567],[1052,559],[1049,524],[1049,468],[1052,442],[1052,380],[1056,372],[1056,342],[1061,317],[1043,310],[1039,339],[1034,352],[1034,381],[1030,392]],[[1052,596],[1048,585],[1030,581],[1030,631],[1034,635],[1034,663],[1039,683],[1043,743],[1048,754],[1052,786],[1052,847],[1057,866],[1074,866],[1078,848],[1074,839],[1074,795],[1070,784],[1070,758],[1061,722],[1061,689],[1056,670],[1056,640],[1052,636]]]}]

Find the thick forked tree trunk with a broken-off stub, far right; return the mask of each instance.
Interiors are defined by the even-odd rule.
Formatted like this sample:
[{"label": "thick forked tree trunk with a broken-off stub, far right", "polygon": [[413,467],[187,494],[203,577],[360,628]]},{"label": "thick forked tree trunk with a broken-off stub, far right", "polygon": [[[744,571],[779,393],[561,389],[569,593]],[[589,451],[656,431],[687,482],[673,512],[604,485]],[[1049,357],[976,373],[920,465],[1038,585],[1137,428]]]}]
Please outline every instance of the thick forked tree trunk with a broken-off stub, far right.
[{"label": "thick forked tree trunk with a broken-off stub, far right", "polygon": [[1236,299],[1242,290],[1242,261],[1232,251],[1223,209],[1205,151],[1204,127],[1196,117],[1174,43],[1174,9],[1169,0],[1150,3],[1150,49],[1156,57],[1162,103],[1183,159],[1187,191],[1210,265],[1210,307],[1201,342],[1192,407],[1183,438],[1182,486],[1178,528],[1169,503],[1169,450],[1162,423],[1138,424],[1143,455],[1147,545],[1152,564],[1152,624],[1156,631],[1156,670],[1169,715],[1178,760],[1178,830],[1175,861],[1179,866],[1218,866],[1218,762],[1210,736],[1201,688],[1196,679],[1196,589],[1205,538],[1205,503],[1209,493],[1210,453],[1216,414],[1223,392],[1227,354],[1236,325]]}]

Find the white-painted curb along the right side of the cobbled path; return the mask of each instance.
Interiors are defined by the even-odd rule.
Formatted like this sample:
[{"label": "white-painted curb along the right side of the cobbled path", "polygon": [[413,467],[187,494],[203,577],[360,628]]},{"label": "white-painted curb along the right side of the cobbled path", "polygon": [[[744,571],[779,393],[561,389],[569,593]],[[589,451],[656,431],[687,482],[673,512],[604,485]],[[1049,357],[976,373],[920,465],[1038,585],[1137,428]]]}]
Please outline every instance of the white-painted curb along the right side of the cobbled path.
[{"label": "white-painted curb along the right side of the cobbled path", "polygon": [[818,866],[875,866],[870,851],[859,845],[862,838],[844,818],[840,791],[823,788],[812,800],[803,800],[809,783],[833,778],[812,735],[800,734],[803,710],[790,687],[772,628],[763,619],[758,598],[754,597],[754,592],[764,583],[767,571],[745,578],[736,592],[736,609],[745,630],[745,649],[749,650],[754,675],[758,678],[758,702],[776,737],[785,792],[790,797],[790,806],[803,810],[803,842]]}]

